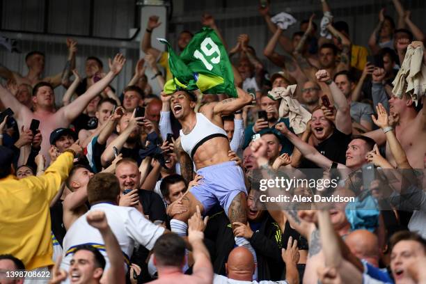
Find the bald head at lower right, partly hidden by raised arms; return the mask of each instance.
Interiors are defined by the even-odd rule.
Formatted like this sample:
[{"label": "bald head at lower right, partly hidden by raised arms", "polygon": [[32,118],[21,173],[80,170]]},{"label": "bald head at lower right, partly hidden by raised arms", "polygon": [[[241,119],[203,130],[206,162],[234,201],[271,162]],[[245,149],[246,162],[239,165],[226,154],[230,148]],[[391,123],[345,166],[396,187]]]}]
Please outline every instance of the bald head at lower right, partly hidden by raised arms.
[{"label": "bald head at lower right, partly hidden by raised arms", "polygon": [[354,255],[359,259],[364,259],[370,264],[379,265],[379,240],[377,236],[368,230],[354,230],[345,239]]}]

